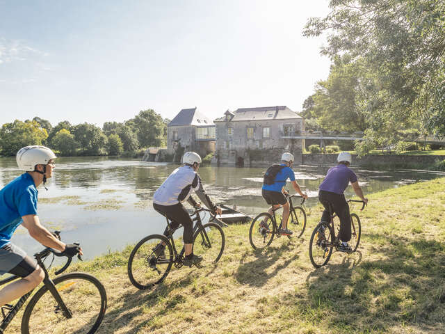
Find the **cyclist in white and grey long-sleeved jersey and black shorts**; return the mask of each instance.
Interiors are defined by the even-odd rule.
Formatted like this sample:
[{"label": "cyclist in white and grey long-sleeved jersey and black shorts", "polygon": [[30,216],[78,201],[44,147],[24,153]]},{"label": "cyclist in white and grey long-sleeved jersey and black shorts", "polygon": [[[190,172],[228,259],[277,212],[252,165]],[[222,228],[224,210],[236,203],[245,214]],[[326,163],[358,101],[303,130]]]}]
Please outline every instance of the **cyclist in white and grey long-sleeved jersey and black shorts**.
[{"label": "cyclist in white and grey long-sleeved jersey and black shorts", "polygon": [[[183,166],[173,170],[153,196],[154,209],[172,221],[170,225],[172,229],[177,228],[181,224],[184,226],[184,265],[186,266],[201,262],[202,257],[194,255],[192,252],[193,221],[182,202],[187,200],[195,209],[199,208],[200,204],[191,196],[192,191],[195,191],[200,200],[213,214],[221,214],[221,208],[213,204],[202,187],[201,177],[197,173],[201,161],[200,154],[196,152],[184,153],[182,158]],[[163,234],[168,236],[168,232],[167,227]],[[164,250],[165,245],[159,244],[155,247],[154,252],[157,256],[162,256]]]}]

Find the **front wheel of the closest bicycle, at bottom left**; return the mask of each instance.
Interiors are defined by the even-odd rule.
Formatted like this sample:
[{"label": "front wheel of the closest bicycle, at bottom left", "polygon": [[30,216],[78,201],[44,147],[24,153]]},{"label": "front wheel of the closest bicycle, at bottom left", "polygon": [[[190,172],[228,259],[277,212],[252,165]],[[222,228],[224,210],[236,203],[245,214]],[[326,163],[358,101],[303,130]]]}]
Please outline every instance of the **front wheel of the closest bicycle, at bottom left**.
[{"label": "front wheel of the closest bicycle, at bottom left", "polygon": [[44,286],[26,306],[22,333],[95,333],[106,310],[104,285],[88,273],[67,273],[54,278],[53,282],[72,318],[65,317],[54,296]]}]

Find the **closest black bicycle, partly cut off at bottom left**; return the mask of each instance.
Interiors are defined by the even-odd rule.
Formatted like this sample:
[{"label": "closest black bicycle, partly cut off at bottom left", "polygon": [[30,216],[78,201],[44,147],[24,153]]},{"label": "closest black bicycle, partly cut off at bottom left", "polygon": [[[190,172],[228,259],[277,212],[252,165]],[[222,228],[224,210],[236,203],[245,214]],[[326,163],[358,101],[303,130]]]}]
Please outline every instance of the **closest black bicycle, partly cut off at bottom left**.
[{"label": "closest black bicycle, partly cut off at bottom left", "polygon": [[[54,233],[60,239],[60,231]],[[22,334],[95,333],[106,311],[104,285],[88,273],[65,273],[51,280],[48,274],[51,264],[48,268],[44,265],[44,260],[51,253],[53,254],[51,264],[54,255],[67,257],[67,262],[61,269],[55,271],[55,275],[63,273],[72,262],[72,257],[57,253],[49,247],[34,254],[35,260],[44,271],[43,287],[38,289],[26,305],[22,316]],[[78,257],[81,260],[81,256]],[[8,277],[1,280],[0,285],[18,278],[18,276]],[[6,304],[1,307],[3,321],[0,324],[0,333],[6,330],[32,293],[33,290],[24,294],[15,305]]]}]

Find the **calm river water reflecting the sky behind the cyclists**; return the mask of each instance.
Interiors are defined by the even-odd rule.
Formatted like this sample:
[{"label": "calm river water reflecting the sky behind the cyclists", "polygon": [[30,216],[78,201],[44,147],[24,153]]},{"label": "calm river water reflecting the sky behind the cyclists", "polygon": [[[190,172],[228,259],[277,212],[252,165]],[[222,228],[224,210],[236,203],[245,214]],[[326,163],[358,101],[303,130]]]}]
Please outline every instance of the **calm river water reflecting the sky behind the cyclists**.
[{"label": "calm river water reflecting the sky behind the cyclists", "polygon": [[[58,158],[49,191],[39,188],[39,216],[44,225],[63,231],[67,242],[80,241],[86,258],[120,250],[143,236],[159,233],[165,220],[152,209],[152,194],[177,165],[106,157]],[[261,197],[266,168],[201,167],[204,188],[215,202],[252,216],[266,209]],[[318,203],[318,186],[327,166],[294,166],[296,179],[309,195],[308,206]],[[445,173],[424,170],[365,170],[353,168],[364,193],[401,184],[431,180]],[[15,159],[0,158],[0,186],[19,175]],[[288,186],[291,189],[291,186]],[[293,193],[293,191],[291,191]],[[350,187],[346,197],[353,196]],[[13,242],[27,253],[40,249],[24,228]]]}]

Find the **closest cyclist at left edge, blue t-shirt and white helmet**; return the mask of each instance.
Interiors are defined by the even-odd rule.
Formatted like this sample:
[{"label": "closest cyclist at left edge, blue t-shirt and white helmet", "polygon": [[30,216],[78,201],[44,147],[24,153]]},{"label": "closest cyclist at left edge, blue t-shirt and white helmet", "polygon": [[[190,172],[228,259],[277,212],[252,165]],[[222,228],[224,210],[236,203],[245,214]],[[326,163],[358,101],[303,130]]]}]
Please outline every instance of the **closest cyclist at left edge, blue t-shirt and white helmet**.
[{"label": "closest cyclist at left edge, blue t-shirt and white helmet", "polygon": [[56,159],[54,152],[44,146],[26,146],[17,152],[16,159],[19,170],[25,173],[0,190],[0,275],[12,273],[22,279],[0,290],[0,306],[31,291],[44,278],[44,271],[10,241],[20,224],[40,244],[60,250],[68,256],[77,253],[82,255],[79,246],[64,244],[40,225],[37,215],[37,188],[42,183],[45,185],[52,176]]}]

